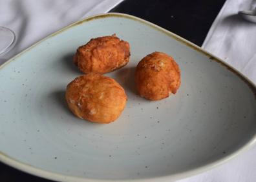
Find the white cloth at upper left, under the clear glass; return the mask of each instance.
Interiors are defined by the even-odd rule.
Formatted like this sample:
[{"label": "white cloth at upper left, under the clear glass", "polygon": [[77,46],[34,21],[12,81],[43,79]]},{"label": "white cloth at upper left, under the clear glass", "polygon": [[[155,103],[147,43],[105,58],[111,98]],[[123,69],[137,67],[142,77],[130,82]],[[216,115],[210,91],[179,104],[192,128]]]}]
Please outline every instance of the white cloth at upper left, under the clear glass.
[{"label": "white cloth at upper left, under the clear glass", "polygon": [[105,13],[122,0],[6,0],[0,1],[0,26],[12,29],[17,43],[0,57],[10,57],[57,30],[87,17]]}]

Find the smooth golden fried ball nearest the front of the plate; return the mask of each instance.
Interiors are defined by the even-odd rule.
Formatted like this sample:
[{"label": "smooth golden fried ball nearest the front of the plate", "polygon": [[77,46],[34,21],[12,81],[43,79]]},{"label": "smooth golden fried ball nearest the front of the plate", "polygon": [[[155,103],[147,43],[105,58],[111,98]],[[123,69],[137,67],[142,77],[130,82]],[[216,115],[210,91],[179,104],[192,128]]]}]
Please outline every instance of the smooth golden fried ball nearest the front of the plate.
[{"label": "smooth golden fried ball nearest the front of the plate", "polygon": [[66,100],[70,110],[81,119],[111,123],[125,108],[127,96],[114,79],[91,73],[69,83]]}]

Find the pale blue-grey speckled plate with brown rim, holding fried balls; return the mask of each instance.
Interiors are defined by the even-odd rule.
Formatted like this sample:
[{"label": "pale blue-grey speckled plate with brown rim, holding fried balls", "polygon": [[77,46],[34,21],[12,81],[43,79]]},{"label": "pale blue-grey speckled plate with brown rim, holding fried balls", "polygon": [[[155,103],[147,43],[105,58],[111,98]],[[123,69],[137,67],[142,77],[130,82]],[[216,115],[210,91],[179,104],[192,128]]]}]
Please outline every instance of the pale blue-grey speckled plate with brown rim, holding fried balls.
[{"label": "pale blue-grey speckled plate with brown rim, holding fried balls", "polygon": [[[76,48],[92,37],[129,41],[131,61],[107,76],[129,100],[114,123],[74,117],[67,84],[81,72]],[[180,65],[182,84],[162,101],[134,90],[134,68],[145,55],[166,52]],[[213,168],[255,143],[255,85],[198,46],[124,14],[89,17],[50,35],[0,69],[0,160],[59,181],[158,181]]]}]

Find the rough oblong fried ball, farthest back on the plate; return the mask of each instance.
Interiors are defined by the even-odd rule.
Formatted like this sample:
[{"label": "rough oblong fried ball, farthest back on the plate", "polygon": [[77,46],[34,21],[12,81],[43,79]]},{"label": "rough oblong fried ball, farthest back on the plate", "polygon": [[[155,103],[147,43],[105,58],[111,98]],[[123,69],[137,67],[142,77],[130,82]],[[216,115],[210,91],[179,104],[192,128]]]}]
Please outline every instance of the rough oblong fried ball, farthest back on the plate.
[{"label": "rough oblong fried ball, farthest back on the plate", "polygon": [[114,34],[91,39],[86,45],[80,46],[73,61],[83,73],[104,74],[125,66],[129,57],[129,43]]}]

